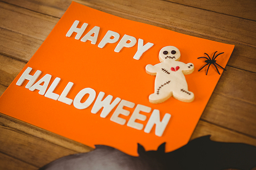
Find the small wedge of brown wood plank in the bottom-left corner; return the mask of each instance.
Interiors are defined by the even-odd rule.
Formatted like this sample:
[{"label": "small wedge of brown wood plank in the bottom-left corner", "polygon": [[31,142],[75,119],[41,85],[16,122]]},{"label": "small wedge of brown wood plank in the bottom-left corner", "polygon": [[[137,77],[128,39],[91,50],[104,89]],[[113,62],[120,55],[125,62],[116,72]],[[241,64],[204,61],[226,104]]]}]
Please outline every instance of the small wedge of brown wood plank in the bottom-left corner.
[{"label": "small wedge of brown wood plank in the bottom-left corner", "polygon": [[15,159],[0,152],[0,169],[4,170],[36,170],[38,167]]}]

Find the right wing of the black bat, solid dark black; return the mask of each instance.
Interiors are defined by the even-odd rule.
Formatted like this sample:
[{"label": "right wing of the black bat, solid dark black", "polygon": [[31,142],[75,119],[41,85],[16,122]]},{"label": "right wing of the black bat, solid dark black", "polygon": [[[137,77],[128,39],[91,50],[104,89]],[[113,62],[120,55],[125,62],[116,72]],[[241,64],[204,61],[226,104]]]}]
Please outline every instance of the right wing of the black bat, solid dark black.
[{"label": "right wing of the black bat, solid dark black", "polygon": [[[166,159],[173,160],[179,166],[177,169],[184,170],[250,170],[256,166],[256,147],[243,143],[215,142],[210,140],[210,136],[194,139],[166,155]],[[172,165],[168,164],[168,167],[171,169]]]}]

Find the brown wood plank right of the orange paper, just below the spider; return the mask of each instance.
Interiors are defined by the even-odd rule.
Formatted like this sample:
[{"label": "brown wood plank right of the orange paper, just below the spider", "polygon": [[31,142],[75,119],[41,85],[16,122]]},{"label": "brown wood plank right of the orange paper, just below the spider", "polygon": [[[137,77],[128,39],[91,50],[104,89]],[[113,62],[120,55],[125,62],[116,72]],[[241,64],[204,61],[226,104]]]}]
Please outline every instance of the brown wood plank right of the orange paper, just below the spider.
[{"label": "brown wood plank right of the orange paper, just below the spider", "polygon": [[255,83],[255,73],[237,68],[227,68],[201,118],[256,137]]}]

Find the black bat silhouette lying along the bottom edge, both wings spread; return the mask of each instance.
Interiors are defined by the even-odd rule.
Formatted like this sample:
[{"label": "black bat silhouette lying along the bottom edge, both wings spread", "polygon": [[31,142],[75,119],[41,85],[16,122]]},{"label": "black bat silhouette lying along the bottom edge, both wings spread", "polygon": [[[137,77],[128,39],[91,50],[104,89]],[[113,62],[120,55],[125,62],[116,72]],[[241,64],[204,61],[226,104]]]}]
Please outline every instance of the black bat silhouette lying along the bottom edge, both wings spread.
[{"label": "black bat silhouette lying along the bottom edge, both wings spread", "polygon": [[215,142],[210,140],[210,136],[194,139],[169,153],[165,153],[165,143],[161,144],[157,151],[147,152],[138,144],[138,154],[138,157],[134,157],[112,147],[96,145],[92,152],[62,157],[39,170],[250,170],[256,166],[256,147],[243,143]]}]

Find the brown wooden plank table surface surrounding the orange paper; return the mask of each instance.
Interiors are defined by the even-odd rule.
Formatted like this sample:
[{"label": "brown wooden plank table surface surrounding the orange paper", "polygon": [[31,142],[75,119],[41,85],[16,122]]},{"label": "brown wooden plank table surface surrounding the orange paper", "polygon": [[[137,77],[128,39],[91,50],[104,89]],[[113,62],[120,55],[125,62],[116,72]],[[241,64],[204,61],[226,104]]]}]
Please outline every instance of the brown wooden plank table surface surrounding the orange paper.
[{"label": "brown wooden plank table surface surrounding the orange paper", "polygon": [[[191,137],[256,145],[256,1],[78,0],[91,8],[179,33],[234,44]],[[0,95],[46,39],[69,0],[0,1]],[[153,33],[154,34],[154,33]],[[92,149],[0,113],[0,169],[37,169]]]}]

